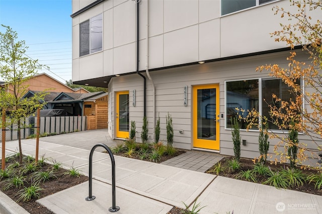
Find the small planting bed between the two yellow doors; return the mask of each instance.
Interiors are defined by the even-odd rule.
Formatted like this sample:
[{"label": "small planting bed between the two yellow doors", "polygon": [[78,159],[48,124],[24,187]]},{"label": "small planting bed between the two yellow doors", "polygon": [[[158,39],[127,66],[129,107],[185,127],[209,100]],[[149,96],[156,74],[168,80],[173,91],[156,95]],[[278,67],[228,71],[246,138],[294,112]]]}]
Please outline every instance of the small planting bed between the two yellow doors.
[{"label": "small planting bed between the two yellow doors", "polygon": [[161,163],[173,157],[185,153],[185,150],[167,147],[162,143],[141,144],[133,140],[119,142],[114,148],[111,148],[114,155],[144,160],[149,162]]}]

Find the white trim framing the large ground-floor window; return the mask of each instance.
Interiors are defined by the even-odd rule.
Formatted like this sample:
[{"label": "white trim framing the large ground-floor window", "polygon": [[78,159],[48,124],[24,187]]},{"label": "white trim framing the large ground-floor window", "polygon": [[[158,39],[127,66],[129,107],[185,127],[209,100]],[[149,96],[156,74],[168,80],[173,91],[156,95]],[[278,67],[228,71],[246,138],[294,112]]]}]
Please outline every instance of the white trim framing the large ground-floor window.
[{"label": "white trim framing the large ground-floor window", "polygon": [[[227,118],[226,118],[226,115],[227,115],[227,82],[235,82],[235,81],[243,81],[243,80],[254,80],[254,79],[258,79],[258,100],[259,100],[259,103],[258,103],[258,112],[260,113],[260,115],[262,115],[262,109],[263,109],[263,96],[262,96],[262,80],[269,80],[269,79],[281,79],[281,78],[276,78],[276,77],[257,77],[257,78],[244,78],[244,79],[229,79],[229,80],[225,80],[224,81],[224,94],[225,94],[225,98],[224,98],[224,108],[225,108],[225,111],[224,111],[224,129],[225,130],[229,130],[231,131],[231,128],[227,128]],[[301,84],[301,88],[302,88],[302,91],[305,92],[305,85],[304,85],[304,80],[303,79],[300,79],[300,84]],[[305,93],[304,93],[305,94]],[[305,108],[305,99],[304,97],[302,98],[303,99],[303,104],[302,104],[302,109],[304,110]],[[259,118],[259,121],[261,121],[261,119]],[[259,132],[259,129],[240,129],[240,131],[248,131],[248,132]],[[271,133],[277,133],[277,134],[287,134],[288,133],[288,130],[279,130],[279,129],[272,129],[272,130],[269,130],[269,132]],[[302,134],[302,133],[298,133],[298,134]]]}]

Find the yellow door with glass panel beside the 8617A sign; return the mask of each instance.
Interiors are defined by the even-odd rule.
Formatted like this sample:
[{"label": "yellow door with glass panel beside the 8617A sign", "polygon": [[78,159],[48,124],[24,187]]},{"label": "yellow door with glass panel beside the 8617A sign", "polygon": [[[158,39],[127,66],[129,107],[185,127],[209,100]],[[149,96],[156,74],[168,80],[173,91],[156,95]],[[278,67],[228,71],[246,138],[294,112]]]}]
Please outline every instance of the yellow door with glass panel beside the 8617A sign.
[{"label": "yellow door with glass panel beside the 8617A sign", "polygon": [[219,84],[193,86],[193,147],[219,150]]}]

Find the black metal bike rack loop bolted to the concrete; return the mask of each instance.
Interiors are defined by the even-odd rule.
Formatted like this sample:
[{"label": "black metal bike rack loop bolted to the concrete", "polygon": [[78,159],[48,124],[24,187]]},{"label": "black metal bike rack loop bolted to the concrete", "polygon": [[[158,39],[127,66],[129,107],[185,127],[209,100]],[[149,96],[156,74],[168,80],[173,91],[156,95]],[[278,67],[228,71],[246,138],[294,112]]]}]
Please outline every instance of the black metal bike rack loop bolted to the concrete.
[{"label": "black metal bike rack loop bolted to the concrete", "polygon": [[110,150],[110,148],[108,146],[106,146],[105,144],[96,144],[90,153],[90,164],[89,164],[89,196],[86,197],[85,199],[90,201],[90,200],[94,200],[96,197],[94,195],[92,195],[92,179],[93,179],[93,170],[92,170],[92,163],[93,163],[93,153],[94,150],[97,147],[104,147],[106,149],[106,151],[109,153],[110,158],[111,158],[111,162],[112,162],[112,206],[109,208],[110,212],[116,212],[118,210],[120,210],[119,206],[115,205],[115,160],[114,160],[114,156],[112,151]]}]

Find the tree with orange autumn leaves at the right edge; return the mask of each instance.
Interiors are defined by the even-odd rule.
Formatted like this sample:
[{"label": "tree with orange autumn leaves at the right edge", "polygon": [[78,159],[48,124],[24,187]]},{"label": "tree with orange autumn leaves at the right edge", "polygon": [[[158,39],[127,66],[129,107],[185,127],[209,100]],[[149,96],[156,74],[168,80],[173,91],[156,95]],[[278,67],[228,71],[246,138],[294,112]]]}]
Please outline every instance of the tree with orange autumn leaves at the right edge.
[{"label": "tree with orange autumn leaves at the right edge", "polygon": [[[291,1],[290,5],[289,11],[274,7],[275,15],[279,14],[281,19],[286,18],[288,23],[280,24],[281,30],[271,34],[275,41],[284,42],[290,47],[290,55],[286,58],[288,67],[270,64],[258,67],[257,71],[270,71],[270,76],[281,79],[290,88],[294,97],[290,100],[283,100],[272,94],[274,103],[269,105],[271,122],[280,130],[305,134],[314,146],[307,148],[305,143],[294,143],[292,137],[285,134],[272,133],[271,137],[280,140],[274,147],[274,152],[280,156],[281,162],[293,158],[295,148],[292,147],[297,147],[297,161],[303,163],[310,153],[316,156],[322,150],[322,22],[316,19],[317,16],[310,16],[321,12],[322,0]],[[308,59],[297,59],[301,51],[307,54]],[[299,82],[304,83],[307,90],[302,90],[303,85]],[[292,121],[296,123],[292,125]],[[280,151],[280,147],[284,147],[284,151]],[[290,148],[294,152],[288,155]]]}]

